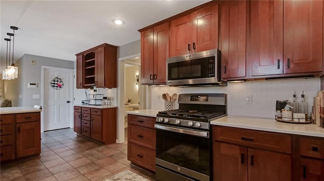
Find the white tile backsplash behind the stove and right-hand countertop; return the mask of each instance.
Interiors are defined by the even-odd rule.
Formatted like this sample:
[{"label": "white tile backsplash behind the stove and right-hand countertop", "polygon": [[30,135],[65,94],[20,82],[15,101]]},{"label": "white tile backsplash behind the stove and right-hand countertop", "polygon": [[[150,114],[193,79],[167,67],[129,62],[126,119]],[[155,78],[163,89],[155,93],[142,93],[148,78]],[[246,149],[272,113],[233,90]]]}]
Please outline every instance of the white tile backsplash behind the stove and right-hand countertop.
[{"label": "white tile backsplash behind the stove and right-hand countertop", "polygon": [[[305,99],[308,102],[308,112],[313,105],[313,97],[320,90],[320,79],[290,79],[290,80],[255,80],[240,83],[228,83],[225,87],[169,87],[149,86],[151,92],[152,109],[164,110],[164,101],[161,98],[163,93],[226,93],[228,115],[246,115],[254,117],[274,118],[276,100],[293,100],[296,91],[297,101],[304,91]],[[252,103],[246,103],[246,96],[252,95]],[[178,103],[175,108],[178,108]]]}]

